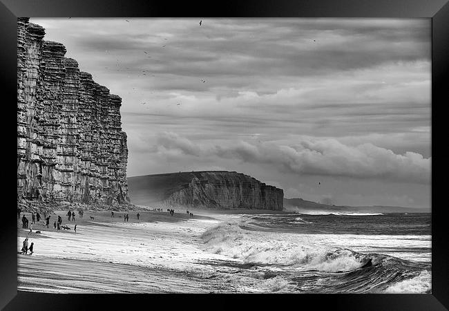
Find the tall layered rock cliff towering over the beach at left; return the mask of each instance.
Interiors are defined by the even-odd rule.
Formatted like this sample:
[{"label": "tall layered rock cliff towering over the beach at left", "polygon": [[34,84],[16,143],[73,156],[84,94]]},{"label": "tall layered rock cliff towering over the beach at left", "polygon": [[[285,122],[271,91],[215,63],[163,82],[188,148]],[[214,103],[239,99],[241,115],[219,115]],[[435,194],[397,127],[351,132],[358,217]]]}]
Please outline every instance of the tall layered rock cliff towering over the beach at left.
[{"label": "tall layered rock cliff towering over the beach at left", "polygon": [[121,98],[17,21],[17,200],[128,203]]}]

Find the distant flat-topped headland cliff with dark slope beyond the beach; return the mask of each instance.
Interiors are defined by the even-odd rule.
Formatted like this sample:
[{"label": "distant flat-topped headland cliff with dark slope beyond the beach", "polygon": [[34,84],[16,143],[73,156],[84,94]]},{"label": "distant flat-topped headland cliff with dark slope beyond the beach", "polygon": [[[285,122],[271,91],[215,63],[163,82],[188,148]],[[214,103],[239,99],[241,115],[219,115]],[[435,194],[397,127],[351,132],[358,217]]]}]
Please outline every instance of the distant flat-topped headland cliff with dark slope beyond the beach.
[{"label": "distant flat-topped headland cliff with dark slope beyond the beach", "polygon": [[282,189],[235,171],[195,171],[128,178],[138,205],[208,209],[283,209]]}]

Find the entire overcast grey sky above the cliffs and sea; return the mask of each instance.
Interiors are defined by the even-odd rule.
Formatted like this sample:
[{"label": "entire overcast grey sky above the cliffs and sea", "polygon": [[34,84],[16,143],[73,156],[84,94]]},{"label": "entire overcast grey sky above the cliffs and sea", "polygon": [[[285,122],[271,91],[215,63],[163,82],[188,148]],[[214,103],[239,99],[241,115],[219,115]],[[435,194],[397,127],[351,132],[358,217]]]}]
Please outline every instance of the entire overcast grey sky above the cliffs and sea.
[{"label": "entire overcast grey sky above the cliffs and sea", "polygon": [[238,171],[285,198],[430,207],[430,19],[30,22],[122,97],[128,177]]}]

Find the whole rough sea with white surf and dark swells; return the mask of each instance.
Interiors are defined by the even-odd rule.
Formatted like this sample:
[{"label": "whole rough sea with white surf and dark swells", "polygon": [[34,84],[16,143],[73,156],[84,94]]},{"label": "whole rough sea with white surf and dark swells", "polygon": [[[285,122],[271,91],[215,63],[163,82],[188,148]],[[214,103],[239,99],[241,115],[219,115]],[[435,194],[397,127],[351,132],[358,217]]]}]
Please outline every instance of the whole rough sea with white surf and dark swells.
[{"label": "whole rough sea with white surf and dark swells", "polygon": [[238,215],[202,240],[261,291],[431,292],[431,214]]}]

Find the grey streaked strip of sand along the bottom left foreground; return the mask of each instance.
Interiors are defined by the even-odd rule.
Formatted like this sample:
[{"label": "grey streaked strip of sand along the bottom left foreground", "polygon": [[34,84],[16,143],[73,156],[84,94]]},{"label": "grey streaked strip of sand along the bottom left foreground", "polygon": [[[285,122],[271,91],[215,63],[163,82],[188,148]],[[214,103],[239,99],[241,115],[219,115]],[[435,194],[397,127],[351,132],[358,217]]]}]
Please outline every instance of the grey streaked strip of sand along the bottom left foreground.
[{"label": "grey streaked strip of sand along the bottom left foreground", "polygon": [[23,256],[19,290],[50,293],[207,293],[187,272],[64,258]]}]

